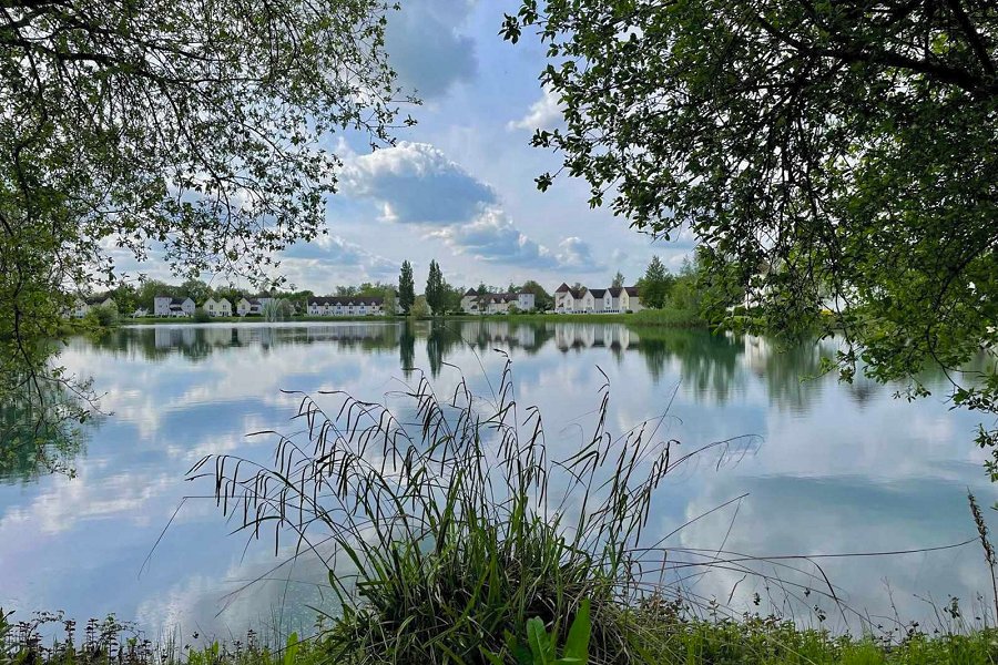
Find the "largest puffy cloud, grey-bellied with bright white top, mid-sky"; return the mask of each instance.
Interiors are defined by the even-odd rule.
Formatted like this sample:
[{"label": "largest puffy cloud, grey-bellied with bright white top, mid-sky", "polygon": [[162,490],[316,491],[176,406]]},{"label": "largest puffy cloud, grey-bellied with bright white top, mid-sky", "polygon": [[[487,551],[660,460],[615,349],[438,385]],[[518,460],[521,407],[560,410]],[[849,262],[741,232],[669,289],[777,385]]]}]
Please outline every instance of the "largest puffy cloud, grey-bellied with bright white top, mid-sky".
[{"label": "largest puffy cloud, grey-bellied with bright white top, mid-sky", "polygon": [[350,161],[344,192],[369,198],[385,221],[457,224],[495,203],[496,192],[428,143],[403,141]]}]

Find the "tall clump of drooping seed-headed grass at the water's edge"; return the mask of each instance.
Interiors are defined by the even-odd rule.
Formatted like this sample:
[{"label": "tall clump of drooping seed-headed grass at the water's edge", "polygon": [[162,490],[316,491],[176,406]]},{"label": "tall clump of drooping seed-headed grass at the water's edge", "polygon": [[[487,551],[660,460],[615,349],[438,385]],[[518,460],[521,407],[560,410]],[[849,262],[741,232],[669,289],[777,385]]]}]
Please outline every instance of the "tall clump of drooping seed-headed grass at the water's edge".
[{"label": "tall clump of drooping seed-headed grass at the water's edge", "polygon": [[608,385],[600,395],[564,458],[539,411],[520,411],[508,360],[488,400],[464,379],[440,397],[425,377],[395,396],[400,413],[302,396],[305,428],[278,436],[273,469],[210,456],[191,478],[211,477],[243,529],[287,530],[324,556],[343,605],[325,636],[335,662],[511,662],[505,635],[562,634],[583,598],[592,662],[630,662],[642,628],[628,608],[664,560],[641,546],[652,498],[696,453],[673,456],[660,420],[612,434]]}]

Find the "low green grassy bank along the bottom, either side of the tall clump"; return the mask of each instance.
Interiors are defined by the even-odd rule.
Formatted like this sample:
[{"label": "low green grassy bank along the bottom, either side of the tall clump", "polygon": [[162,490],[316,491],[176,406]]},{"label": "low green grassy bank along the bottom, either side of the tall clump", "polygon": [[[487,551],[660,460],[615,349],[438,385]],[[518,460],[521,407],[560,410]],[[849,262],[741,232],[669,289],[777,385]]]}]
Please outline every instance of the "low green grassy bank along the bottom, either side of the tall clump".
[{"label": "low green grassy bank along the bottom, either side of the tall clump", "polygon": [[[16,618],[16,617],[11,617]],[[227,643],[198,636],[194,644],[177,640],[152,643],[115,621],[91,621],[57,637],[41,638],[33,622],[0,623],[0,663],[18,665],[334,665],[332,638],[319,632],[299,640],[292,634],[279,645],[265,644],[254,633]],[[645,626],[646,630],[646,626]],[[646,651],[633,663],[643,665],[988,665],[998,663],[998,632],[927,635],[906,633],[899,641],[874,636],[833,636],[791,623],[761,617],[712,622],[669,621],[656,628]],[[191,636],[187,636],[191,637]],[[529,649],[528,649],[529,651]],[[557,651],[557,649],[556,649]],[[531,654],[532,656],[532,654]],[[466,663],[492,665],[487,656]],[[354,659],[354,658],[349,658]],[[369,661],[380,663],[381,661]],[[387,663],[387,661],[385,661]],[[459,663],[440,659],[436,663]],[[505,663],[507,661],[500,661]],[[508,661],[519,665],[517,661]],[[571,665],[599,665],[592,655]],[[399,663],[408,663],[399,661]],[[427,661],[431,665],[434,661]],[[552,663],[552,662],[549,662]],[[568,662],[566,662],[568,663]],[[532,657],[525,665],[544,665]],[[418,664],[421,665],[421,664]]]}]

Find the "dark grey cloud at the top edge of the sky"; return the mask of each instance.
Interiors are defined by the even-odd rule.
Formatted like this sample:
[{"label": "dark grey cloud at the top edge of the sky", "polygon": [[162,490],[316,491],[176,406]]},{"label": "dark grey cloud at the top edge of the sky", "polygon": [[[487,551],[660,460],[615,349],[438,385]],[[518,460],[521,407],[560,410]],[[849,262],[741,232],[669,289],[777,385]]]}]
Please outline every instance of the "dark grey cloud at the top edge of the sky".
[{"label": "dark grey cloud at the top edge of the sky", "polygon": [[475,41],[458,32],[473,6],[468,0],[420,0],[403,2],[400,11],[389,13],[385,48],[404,89],[434,99],[475,76]]}]

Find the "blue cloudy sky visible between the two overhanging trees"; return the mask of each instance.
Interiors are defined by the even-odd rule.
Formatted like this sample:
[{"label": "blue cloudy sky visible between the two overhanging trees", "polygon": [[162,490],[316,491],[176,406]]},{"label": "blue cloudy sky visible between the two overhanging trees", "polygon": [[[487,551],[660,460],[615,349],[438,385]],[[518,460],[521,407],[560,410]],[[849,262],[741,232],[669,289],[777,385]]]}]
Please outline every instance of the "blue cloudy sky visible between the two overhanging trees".
[{"label": "blue cloudy sky visible between the two overhanging trees", "polygon": [[401,117],[417,124],[375,152],[360,136],[333,139],[344,167],[327,204],[328,234],[282,253],[289,285],[328,294],[396,282],[406,259],[417,289],[431,259],[454,285],[536,279],[549,289],[609,286],[618,270],[633,284],[654,254],[680,267],[689,241],[652,242],[609,209],[590,209],[583,181],[537,190],[534,177],[560,157],[531,147],[530,136],[557,126],[560,114],[538,81],[546,62],[537,39],[513,45],[498,35],[503,12],[516,9],[508,0],[409,0],[390,13],[389,60],[398,83],[424,102],[403,106]]}]

